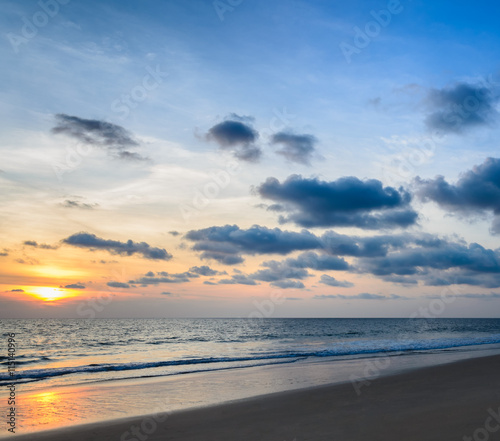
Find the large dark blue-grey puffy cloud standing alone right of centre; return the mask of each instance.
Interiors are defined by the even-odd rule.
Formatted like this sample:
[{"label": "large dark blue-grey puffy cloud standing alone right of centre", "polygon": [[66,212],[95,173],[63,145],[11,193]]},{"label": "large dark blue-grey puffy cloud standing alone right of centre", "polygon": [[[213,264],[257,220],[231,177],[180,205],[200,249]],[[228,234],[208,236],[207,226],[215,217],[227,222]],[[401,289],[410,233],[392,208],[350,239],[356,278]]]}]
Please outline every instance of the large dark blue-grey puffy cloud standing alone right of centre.
[{"label": "large dark blue-grey puffy cloud standing alone right of centre", "polygon": [[280,223],[306,228],[405,228],[418,217],[409,207],[411,196],[406,190],[384,187],[376,179],[361,181],[351,176],[327,182],[292,175],[283,183],[267,178],[256,191],[276,202],[269,209],[286,213]]}]

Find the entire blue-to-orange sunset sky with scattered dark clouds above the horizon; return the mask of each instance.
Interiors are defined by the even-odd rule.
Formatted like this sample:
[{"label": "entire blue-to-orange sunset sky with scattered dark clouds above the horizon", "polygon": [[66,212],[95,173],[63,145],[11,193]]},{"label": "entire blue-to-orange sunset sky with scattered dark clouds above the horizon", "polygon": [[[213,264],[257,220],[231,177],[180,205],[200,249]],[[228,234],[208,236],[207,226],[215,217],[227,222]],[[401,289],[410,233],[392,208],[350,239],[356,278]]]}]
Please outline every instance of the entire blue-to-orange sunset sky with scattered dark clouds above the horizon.
[{"label": "entire blue-to-orange sunset sky with scattered dark clouds above the horizon", "polygon": [[496,317],[499,9],[4,1],[0,317]]}]

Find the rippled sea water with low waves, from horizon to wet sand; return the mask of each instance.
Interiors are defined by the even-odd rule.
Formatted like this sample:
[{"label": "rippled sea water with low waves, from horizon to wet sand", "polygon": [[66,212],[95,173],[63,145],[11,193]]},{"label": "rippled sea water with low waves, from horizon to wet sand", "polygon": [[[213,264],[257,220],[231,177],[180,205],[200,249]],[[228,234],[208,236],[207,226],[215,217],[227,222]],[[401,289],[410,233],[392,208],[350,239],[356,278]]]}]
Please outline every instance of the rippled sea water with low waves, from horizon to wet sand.
[{"label": "rippled sea water with low waves, from horizon to wet sand", "polygon": [[500,319],[1,320],[16,334],[24,390],[356,358],[470,351],[500,343]]}]

